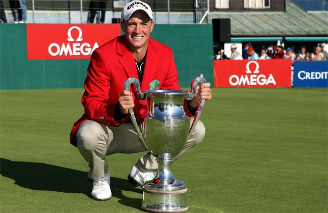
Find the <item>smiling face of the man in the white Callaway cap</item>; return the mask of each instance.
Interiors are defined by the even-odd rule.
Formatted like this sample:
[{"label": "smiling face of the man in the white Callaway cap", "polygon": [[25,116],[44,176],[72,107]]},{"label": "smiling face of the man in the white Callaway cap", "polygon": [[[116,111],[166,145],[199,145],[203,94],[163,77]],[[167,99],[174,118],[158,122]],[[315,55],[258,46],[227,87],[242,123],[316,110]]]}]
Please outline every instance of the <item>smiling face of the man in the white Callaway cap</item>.
[{"label": "smiling face of the man in the white Callaway cap", "polygon": [[121,22],[121,28],[132,51],[147,47],[153,27],[154,22],[142,10],[134,12],[129,20]]}]

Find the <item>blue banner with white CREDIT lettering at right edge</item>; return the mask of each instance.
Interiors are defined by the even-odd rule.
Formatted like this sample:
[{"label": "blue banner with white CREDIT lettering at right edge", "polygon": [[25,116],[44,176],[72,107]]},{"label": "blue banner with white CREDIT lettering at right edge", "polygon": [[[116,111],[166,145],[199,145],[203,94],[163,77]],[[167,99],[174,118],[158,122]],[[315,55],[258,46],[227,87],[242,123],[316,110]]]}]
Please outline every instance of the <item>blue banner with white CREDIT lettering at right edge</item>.
[{"label": "blue banner with white CREDIT lettering at right edge", "polygon": [[294,87],[328,87],[328,61],[294,62]]}]

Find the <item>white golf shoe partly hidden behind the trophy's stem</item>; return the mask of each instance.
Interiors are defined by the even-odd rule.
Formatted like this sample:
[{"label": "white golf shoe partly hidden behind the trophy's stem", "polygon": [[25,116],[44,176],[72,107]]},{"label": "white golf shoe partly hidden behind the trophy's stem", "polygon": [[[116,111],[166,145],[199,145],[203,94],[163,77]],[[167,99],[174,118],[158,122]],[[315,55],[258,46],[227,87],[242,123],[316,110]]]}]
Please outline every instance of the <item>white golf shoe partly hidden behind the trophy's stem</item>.
[{"label": "white golf shoe partly hidden behind the trophy's stem", "polygon": [[134,165],[130,171],[128,179],[132,184],[143,187],[145,182],[151,181],[156,177],[156,175],[156,171],[141,170],[136,165]]}]

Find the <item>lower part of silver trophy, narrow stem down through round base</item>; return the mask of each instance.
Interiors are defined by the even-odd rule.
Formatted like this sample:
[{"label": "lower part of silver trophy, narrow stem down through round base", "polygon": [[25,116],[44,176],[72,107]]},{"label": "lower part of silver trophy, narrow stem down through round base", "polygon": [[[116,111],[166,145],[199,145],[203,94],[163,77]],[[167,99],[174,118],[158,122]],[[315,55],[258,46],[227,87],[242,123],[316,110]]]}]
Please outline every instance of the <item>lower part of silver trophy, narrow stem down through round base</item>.
[{"label": "lower part of silver trophy, narrow stem down through round base", "polygon": [[161,153],[157,158],[158,173],[155,179],[145,183],[141,208],[150,212],[185,212],[187,206],[187,187],[172,175],[170,166],[173,157]]}]

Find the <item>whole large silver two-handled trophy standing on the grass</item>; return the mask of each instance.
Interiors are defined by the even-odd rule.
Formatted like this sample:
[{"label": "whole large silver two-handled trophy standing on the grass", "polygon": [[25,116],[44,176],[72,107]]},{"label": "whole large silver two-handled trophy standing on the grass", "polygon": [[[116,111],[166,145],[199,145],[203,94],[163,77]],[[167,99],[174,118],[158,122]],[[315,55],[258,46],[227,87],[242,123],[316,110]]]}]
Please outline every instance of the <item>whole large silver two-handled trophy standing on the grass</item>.
[{"label": "whole large silver two-handled trophy standing on the grass", "polygon": [[129,109],[130,118],[140,140],[147,150],[157,157],[157,176],[144,184],[141,208],[150,212],[184,212],[187,206],[187,187],[184,182],[174,178],[170,166],[181,152],[197,124],[205,99],[199,101],[195,118],[184,110],[184,99],[191,100],[199,83],[206,83],[201,77],[194,79],[191,92],[181,90],[145,90],[140,91],[136,78],[124,82],[124,89],[130,91],[134,83],[138,98],[147,98],[147,115],[137,124],[133,109]]}]

